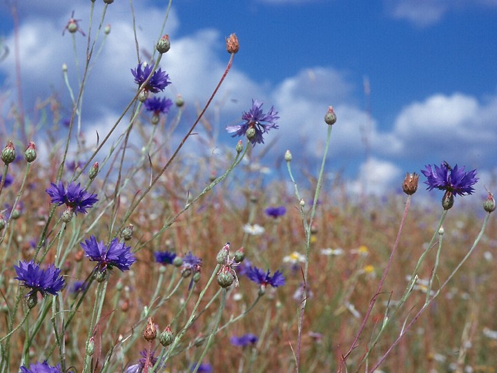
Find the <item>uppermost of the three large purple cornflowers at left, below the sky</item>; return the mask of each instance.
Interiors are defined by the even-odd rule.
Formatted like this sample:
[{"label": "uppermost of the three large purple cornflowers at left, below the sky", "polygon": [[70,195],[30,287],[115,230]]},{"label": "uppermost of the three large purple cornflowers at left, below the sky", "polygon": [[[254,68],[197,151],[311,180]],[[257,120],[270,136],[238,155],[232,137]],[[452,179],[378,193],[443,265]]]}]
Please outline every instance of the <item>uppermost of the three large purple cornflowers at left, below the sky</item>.
[{"label": "uppermost of the three large purple cornflowers at left, below the sky", "polygon": [[96,194],[88,193],[79,187],[79,183],[76,185],[74,182],[71,182],[67,189],[64,189],[62,182],[59,182],[59,186],[53,182],[50,185],[50,188],[45,189],[47,194],[52,198],[50,202],[57,204],[57,206],[66,204],[75,213],[86,213],[86,209],[92,207],[98,201]]}]

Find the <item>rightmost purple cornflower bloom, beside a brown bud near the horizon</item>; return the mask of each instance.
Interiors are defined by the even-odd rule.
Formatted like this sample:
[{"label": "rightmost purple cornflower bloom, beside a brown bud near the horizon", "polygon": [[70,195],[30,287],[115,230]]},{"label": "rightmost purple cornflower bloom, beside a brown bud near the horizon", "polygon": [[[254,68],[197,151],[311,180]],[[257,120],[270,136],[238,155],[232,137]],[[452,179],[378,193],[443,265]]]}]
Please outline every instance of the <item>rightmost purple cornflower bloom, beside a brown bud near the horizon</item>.
[{"label": "rightmost purple cornflower bloom, beside a brown bud near the horizon", "polygon": [[440,167],[433,167],[431,164],[425,166],[421,173],[427,177],[425,184],[427,189],[440,189],[440,191],[449,191],[454,195],[468,195],[474,192],[474,184],[478,181],[476,170],[465,172],[464,166],[458,168],[457,164],[452,168],[443,162]]}]

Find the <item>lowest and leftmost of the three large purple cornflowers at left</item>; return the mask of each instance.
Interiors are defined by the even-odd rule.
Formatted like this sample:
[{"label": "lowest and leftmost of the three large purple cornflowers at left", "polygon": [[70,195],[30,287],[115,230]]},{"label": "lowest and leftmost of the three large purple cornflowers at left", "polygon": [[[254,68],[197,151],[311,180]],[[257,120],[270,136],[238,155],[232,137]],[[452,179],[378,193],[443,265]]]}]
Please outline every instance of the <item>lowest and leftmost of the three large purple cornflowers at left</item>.
[{"label": "lowest and leftmost of the three large purple cornflowers at left", "polygon": [[16,280],[21,281],[24,287],[29,287],[31,291],[27,296],[36,294],[37,291],[42,296],[47,294],[57,295],[64,287],[65,281],[60,275],[61,270],[55,265],[49,265],[47,269],[41,269],[39,265],[32,260],[29,262],[19,261],[19,267],[14,265],[17,277]]}]

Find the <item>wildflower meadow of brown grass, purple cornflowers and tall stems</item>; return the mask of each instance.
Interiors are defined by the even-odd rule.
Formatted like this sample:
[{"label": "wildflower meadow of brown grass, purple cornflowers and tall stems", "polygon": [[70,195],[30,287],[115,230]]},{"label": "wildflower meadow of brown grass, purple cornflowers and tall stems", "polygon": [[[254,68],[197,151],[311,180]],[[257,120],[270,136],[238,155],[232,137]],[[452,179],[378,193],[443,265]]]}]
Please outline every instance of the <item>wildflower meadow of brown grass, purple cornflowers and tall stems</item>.
[{"label": "wildflower meadow of brown grass, purple cornflowers and tall stems", "polygon": [[[234,34],[188,123],[160,63],[174,41],[157,30],[153,55],[130,66],[128,106],[84,142],[112,3],[88,2],[88,30],[66,25],[88,37],[70,118],[51,97],[41,122],[15,106],[0,119],[0,372],[495,372],[495,201],[463,203],[478,198],[476,170],[433,160],[403,193],[358,201],[325,177],[330,106],[318,173],[294,177],[305,164],[286,151],[284,180],[263,187],[251,155],[284,124],[257,98],[226,125],[221,157],[185,152],[243,48]],[[422,184],[441,203],[418,204]]]}]

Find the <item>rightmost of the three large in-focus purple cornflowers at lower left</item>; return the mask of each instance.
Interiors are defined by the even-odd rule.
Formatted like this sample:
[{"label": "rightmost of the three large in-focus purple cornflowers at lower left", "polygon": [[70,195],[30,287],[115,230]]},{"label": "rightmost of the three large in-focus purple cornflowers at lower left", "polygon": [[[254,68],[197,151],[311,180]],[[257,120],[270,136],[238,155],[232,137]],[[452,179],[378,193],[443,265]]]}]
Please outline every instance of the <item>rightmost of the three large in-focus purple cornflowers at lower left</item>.
[{"label": "rightmost of the three large in-focus purple cornflowers at lower left", "polygon": [[95,236],[90,236],[90,240],[85,240],[79,245],[84,249],[86,256],[91,262],[98,262],[99,271],[117,267],[121,271],[128,271],[131,265],[136,262],[135,255],[131,252],[131,247],[119,242],[114,238],[108,246],[103,241],[97,242]]}]

